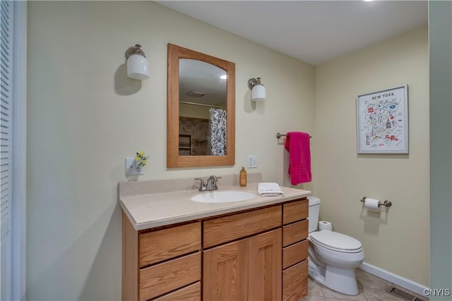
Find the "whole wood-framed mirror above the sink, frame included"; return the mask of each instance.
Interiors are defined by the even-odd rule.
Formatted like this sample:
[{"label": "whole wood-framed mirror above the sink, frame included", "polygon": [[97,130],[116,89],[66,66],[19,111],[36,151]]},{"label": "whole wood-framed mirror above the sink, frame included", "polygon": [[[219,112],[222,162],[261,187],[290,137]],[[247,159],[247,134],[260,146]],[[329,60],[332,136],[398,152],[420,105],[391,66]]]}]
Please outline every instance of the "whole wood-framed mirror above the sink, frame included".
[{"label": "whole wood-framed mirror above the sink, frame included", "polygon": [[167,167],[235,164],[235,64],[168,44]]}]

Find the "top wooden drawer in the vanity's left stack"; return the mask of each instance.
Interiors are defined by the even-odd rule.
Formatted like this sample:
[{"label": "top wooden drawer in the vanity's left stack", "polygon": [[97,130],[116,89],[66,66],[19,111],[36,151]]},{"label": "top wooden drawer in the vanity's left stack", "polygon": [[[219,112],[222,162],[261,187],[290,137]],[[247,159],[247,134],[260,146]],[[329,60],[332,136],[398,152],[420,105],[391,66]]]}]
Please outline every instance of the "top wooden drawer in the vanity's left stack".
[{"label": "top wooden drawer in the vanity's left stack", "polygon": [[201,250],[201,222],[140,234],[140,267]]}]

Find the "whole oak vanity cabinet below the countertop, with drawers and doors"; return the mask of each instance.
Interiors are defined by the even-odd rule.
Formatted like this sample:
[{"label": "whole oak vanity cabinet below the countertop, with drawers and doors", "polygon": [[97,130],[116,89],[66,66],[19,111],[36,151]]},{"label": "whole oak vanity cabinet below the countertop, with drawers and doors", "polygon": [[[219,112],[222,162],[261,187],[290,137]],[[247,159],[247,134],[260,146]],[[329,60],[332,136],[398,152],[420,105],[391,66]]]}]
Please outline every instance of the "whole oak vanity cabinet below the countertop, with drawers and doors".
[{"label": "whole oak vanity cabinet below the countertop, with drawers and doors", "polygon": [[307,216],[306,197],[145,231],[123,213],[122,300],[298,301]]}]

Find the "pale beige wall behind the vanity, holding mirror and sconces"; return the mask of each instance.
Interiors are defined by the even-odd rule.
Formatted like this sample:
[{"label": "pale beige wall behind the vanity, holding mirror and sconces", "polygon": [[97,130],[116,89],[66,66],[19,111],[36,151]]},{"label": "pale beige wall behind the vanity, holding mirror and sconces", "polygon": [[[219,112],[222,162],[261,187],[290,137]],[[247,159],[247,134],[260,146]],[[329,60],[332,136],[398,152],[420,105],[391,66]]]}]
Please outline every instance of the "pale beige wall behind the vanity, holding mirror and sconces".
[{"label": "pale beige wall behind the vanity, holding mirror and sconces", "polygon": [[[166,168],[167,43],[236,63],[236,165]],[[139,43],[150,79],[126,77]],[[314,66],[152,1],[28,3],[29,300],[119,300],[124,158],[150,156],[140,180],[238,173],[258,156],[263,180],[283,183],[275,133],[314,132]],[[267,101],[250,101],[261,77]],[[221,183],[219,183],[221,185]]]}]

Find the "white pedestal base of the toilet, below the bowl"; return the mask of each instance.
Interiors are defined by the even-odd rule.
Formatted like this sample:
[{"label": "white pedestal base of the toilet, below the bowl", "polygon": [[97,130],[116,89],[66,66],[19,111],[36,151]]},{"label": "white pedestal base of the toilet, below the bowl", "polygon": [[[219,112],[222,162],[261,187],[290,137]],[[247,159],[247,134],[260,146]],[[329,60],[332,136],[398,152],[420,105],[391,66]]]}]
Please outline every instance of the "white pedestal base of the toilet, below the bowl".
[{"label": "white pedestal base of the toilet, below the bowl", "polygon": [[326,267],[317,266],[309,260],[308,274],[315,281],[345,295],[357,295],[358,285],[355,268],[343,269],[329,264]]}]

